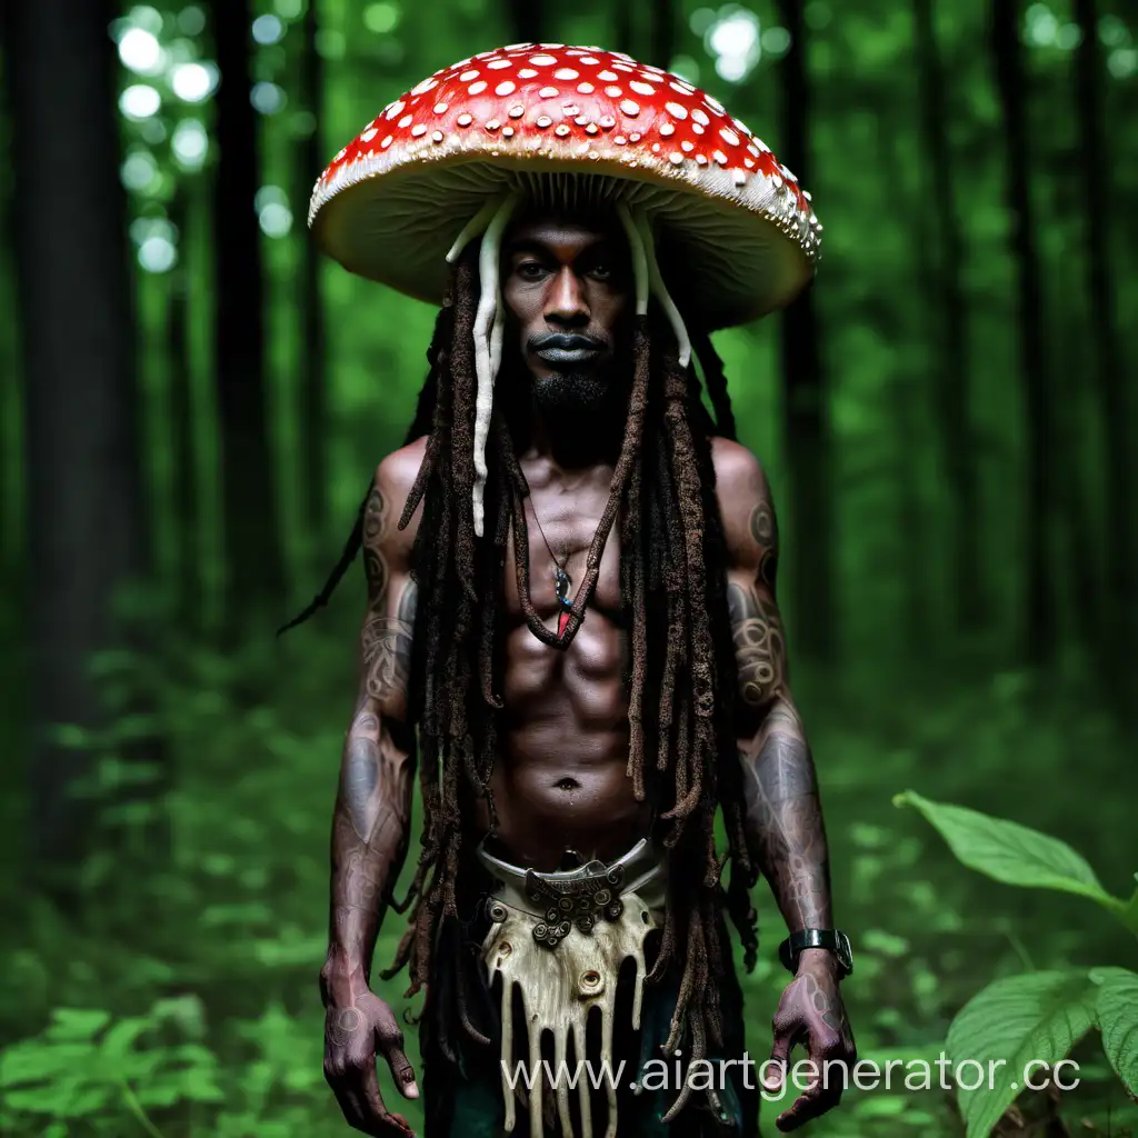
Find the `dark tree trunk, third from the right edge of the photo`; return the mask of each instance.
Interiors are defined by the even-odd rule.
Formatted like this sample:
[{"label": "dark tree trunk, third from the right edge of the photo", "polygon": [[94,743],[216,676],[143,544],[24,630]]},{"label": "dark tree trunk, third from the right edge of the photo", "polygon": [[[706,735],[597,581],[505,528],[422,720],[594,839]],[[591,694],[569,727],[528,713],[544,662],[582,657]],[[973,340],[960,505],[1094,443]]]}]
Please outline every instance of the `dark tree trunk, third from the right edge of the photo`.
[{"label": "dark tree trunk, third from the right edge of the photo", "polygon": [[945,73],[933,31],[932,0],[914,0],[917,77],[921,90],[921,141],[930,175],[935,245],[939,253],[931,302],[938,312],[934,381],[943,426],[942,454],[951,510],[951,564],[955,596],[951,625],[963,630],[983,626],[988,607],[980,556],[980,495],[972,424],[968,420],[968,327],[964,297],[964,242],[953,189],[954,163],[948,145]]}]

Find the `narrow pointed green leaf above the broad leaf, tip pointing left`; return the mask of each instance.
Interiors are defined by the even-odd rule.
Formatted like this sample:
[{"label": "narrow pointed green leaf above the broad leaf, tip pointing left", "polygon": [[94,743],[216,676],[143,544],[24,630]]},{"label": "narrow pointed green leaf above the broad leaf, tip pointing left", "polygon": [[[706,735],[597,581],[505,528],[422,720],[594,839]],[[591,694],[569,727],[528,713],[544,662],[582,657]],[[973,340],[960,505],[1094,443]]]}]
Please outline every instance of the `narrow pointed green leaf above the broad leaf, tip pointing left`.
[{"label": "narrow pointed green leaf above the broad leaf, tip pointing left", "polygon": [[1125,910],[1125,904],[1098,883],[1087,861],[1057,838],[963,806],[931,802],[914,791],[898,794],[893,805],[916,807],[970,869],[1008,885],[1089,897],[1119,916]]}]

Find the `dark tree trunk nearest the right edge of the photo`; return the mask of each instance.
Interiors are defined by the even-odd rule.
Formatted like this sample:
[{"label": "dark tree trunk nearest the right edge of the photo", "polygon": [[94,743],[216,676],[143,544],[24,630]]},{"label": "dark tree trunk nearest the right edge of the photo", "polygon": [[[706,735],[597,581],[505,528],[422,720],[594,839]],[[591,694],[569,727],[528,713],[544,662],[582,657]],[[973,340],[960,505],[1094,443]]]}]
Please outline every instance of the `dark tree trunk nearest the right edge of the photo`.
[{"label": "dark tree trunk nearest the right edge of the photo", "polygon": [[1114,282],[1107,253],[1108,215],[1103,203],[1111,200],[1111,170],[1103,145],[1103,60],[1098,42],[1098,13],[1095,0],[1074,0],[1074,17],[1082,41],[1074,52],[1075,110],[1079,122],[1079,167],[1085,187],[1080,193],[1087,233],[1087,291],[1090,299],[1091,353],[1095,386],[1103,417],[1104,461],[1106,464],[1104,514],[1106,519],[1104,559],[1106,596],[1098,632],[1105,650],[1105,671],[1113,675],[1125,659],[1138,634],[1135,599],[1133,509],[1130,505],[1135,483],[1129,455],[1128,434],[1132,422],[1124,382],[1122,352],[1115,320]]}]

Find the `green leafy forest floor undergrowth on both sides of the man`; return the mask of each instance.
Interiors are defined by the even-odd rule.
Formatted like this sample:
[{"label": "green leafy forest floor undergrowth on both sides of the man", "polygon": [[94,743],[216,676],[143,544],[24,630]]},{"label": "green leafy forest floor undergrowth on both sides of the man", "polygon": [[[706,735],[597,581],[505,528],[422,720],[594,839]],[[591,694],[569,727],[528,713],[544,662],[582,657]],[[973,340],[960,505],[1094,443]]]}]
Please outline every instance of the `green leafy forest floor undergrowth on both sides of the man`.
[{"label": "green leafy forest floor undergrowth on both sides of the man", "polygon": [[[123,805],[129,768],[107,760],[92,808],[119,840],[88,864],[80,912],[60,915],[28,896],[18,871],[6,875],[5,1133],[352,1132],[323,1081],[316,989],[329,818],[354,691],[349,636],[308,628],[225,657],[183,646],[160,669],[176,770],[162,801],[168,863],[132,852],[130,835],[145,832],[152,808]],[[795,676],[822,778],[836,916],[855,945],[844,995],[863,1056],[935,1056],[955,1013],[996,976],[1135,963],[1132,939],[1088,901],[975,875],[918,814],[892,805],[912,789],[1014,818],[1070,842],[1107,890],[1132,890],[1133,753],[1121,728],[1074,683],[959,671]],[[3,742],[14,753],[13,737]],[[16,865],[25,795],[18,765],[5,767],[0,840]],[[100,795],[119,805],[100,807]],[[786,974],[774,958],[783,932],[764,887],[758,900],[762,948],[744,990],[748,1050],[761,1062]],[[401,931],[393,915],[377,965]],[[405,976],[377,987],[399,1014],[419,1004],[403,998]],[[407,1037],[415,1059],[414,1032]],[[1097,1040],[1075,1057],[1083,1082],[1062,1102],[1072,1132],[1138,1130]],[[388,1104],[410,1106],[418,1125],[417,1104],[396,1100],[393,1090]],[[767,1135],[775,1110],[764,1107]],[[809,1132],[935,1138],[963,1127],[949,1094],[894,1086],[849,1091]]]}]

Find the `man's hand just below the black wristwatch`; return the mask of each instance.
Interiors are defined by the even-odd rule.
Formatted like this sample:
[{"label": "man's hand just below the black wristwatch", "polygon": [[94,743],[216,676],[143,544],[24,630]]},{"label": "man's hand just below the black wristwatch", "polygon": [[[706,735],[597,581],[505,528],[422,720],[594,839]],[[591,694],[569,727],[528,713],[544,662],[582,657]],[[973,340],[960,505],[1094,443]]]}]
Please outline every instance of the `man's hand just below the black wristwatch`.
[{"label": "man's hand just below the black wristwatch", "polygon": [[[797,1130],[836,1106],[844,1081],[836,1064],[844,1063],[848,1072],[857,1062],[853,1032],[838,991],[840,971],[833,954],[808,948],[799,956],[798,972],[778,1001],[773,1021],[775,1046],[764,1075],[764,1090],[777,1095],[782,1089],[795,1044],[806,1047],[817,1070],[807,1089],[775,1120],[782,1131]],[[825,1078],[827,1062],[831,1066]]]}]

